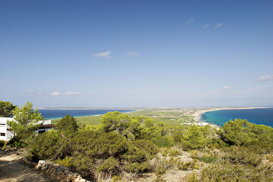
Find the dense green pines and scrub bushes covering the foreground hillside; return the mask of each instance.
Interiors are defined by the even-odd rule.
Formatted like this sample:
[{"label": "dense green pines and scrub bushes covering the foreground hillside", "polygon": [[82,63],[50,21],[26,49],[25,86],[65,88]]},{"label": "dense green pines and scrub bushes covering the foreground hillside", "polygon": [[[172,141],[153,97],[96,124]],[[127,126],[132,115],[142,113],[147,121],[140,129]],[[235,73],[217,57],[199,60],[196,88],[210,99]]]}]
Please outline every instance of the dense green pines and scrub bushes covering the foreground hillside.
[{"label": "dense green pines and scrub bushes covering the foreground hillside", "polygon": [[[103,115],[98,125],[84,126],[67,115],[55,130],[24,143],[27,157],[33,161],[54,160],[96,178],[152,171],[154,180],[162,181],[168,169],[200,169],[207,163],[201,174],[193,173],[189,181],[273,180],[272,165],[265,162],[265,158],[273,161],[273,129],[241,119],[216,130],[209,125],[170,126],[117,111]],[[193,162],[176,157],[183,151],[191,153]]]}]

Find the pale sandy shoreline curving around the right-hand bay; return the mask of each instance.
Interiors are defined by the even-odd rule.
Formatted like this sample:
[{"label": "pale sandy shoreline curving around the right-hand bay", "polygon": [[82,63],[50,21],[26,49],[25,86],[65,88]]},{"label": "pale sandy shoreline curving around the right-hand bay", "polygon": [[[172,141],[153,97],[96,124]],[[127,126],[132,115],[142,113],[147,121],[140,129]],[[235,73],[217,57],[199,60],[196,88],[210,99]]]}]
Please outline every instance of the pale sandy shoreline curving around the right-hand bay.
[{"label": "pale sandy shoreline curving around the right-hand bay", "polygon": [[[204,108],[207,108],[207,107],[204,107]],[[206,112],[217,111],[217,110],[258,109],[258,108],[273,108],[273,107],[262,107],[262,106],[261,107],[219,107],[219,108],[208,107],[208,110],[196,111],[193,116],[194,116],[194,121],[197,122],[197,123],[204,123],[204,124],[206,123],[206,124],[209,124],[212,127],[219,128],[220,126],[218,126],[216,124],[208,123],[206,121],[201,120],[201,115],[206,113]]]}]

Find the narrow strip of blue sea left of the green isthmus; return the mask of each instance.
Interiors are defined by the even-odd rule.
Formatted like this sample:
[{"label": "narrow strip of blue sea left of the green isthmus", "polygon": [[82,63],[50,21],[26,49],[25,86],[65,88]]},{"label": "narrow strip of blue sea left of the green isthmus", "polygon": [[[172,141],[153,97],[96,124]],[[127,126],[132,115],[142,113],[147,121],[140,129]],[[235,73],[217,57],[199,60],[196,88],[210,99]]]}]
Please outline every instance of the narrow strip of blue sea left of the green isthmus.
[{"label": "narrow strip of blue sea left of the green isthmus", "polygon": [[76,117],[81,116],[95,116],[95,115],[104,115],[108,112],[118,111],[120,113],[127,113],[136,110],[129,110],[129,109],[38,109],[41,116],[44,119],[59,119],[63,118],[66,115]]}]

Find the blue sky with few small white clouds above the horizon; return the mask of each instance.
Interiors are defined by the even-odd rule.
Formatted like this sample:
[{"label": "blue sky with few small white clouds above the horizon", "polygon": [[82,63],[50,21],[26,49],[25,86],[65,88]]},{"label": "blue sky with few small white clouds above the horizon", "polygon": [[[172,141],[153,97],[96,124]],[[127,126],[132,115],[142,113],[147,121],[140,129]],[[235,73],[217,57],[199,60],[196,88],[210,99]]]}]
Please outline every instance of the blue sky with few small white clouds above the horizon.
[{"label": "blue sky with few small white clouds above the horizon", "polygon": [[0,1],[0,99],[273,105],[273,1]]}]

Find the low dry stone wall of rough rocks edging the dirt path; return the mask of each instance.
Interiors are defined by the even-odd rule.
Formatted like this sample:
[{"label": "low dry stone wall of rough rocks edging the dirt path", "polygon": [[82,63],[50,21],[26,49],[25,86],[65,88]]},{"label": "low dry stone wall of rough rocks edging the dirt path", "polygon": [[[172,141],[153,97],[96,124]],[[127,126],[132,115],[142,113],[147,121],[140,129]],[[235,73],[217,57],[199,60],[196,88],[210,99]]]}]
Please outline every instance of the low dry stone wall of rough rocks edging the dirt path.
[{"label": "low dry stone wall of rough rocks edging the dirt path", "polygon": [[58,163],[39,160],[38,163],[31,162],[26,158],[22,159],[24,163],[29,165],[33,165],[35,169],[44,171],[50,174],[52,177],[57,178],[57,180],[65,181],[65,182],[90,182],[81,177],[78,173],[70,172],[68,168],[63,165],[59,165]]}]

